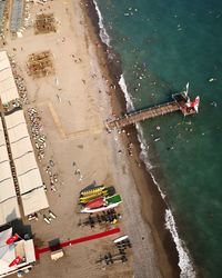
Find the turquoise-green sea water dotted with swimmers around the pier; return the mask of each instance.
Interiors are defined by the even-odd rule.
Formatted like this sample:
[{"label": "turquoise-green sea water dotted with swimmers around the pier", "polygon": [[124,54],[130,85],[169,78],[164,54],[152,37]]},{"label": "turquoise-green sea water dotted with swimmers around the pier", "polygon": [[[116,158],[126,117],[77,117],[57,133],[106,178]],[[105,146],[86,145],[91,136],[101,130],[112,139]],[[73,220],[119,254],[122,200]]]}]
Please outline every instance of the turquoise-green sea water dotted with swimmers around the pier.
[{"label": "turquoise-green sea water dotted with swimmers around the pier", "polygon": [[97,2],[137,109],[170,100],[188,81],[191,98],[201,97],[199,115],[173,113],[142,128],[200,277],[222,277],[222,1]]}]

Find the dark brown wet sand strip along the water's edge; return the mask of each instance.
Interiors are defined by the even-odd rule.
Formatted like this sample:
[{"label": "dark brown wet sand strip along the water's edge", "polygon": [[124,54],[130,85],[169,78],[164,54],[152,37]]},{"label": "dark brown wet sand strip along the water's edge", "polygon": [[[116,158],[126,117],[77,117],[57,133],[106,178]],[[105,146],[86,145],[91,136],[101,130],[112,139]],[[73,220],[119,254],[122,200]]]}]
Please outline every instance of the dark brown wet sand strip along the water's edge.
[{"label": "dark brown wet sand strip along the water's edge", "polygon": [[[87,3],[88,7],[85,10],[93,24],[95,32],[94,36],[102,46],[97,51],[98,56],[102,54],[104,59],[107,59],[108,68],[104,70],[108,71],[107,75],[110,76],[110,79],[117,88],[115,90],[112,90],[110,97],[112,111],[114,115],[121,116],[127,112],[127,101],[124,98],[124,93],[119,85],[119,80],[122,75],[121,63],[119,62],[119,64],[117,64],[117,62],[114,63],[114,60],[109,60],[108,54],[110,52],[110,48],[104,42],[102,42],[100,38],[99,17],[94,3],[92,0],[87,0]],[[142,161],[140,158],[141,148],[137,128],[132,126],[128,127],[125,130],[125,133],[130,132],[130,136],[125,136],[125,133],[123,133],[122,141],[125,148],[129,142],[133,142],[134,146],[133,159],[129,157],[129,163],[133,178],[135,180],[138,193],[141,198],[142,218],[151,227],[152,230],[154,246],[158,255],[158,265],[160,266],[163,277],[180,277],[181,269],[178,266],[179,254],[170,230],[165,228],[164,215],[168,206],[162,199],[157,185],[153,182],[151,173],[148,171],[144,161]],[[140,161],[140,167],[135,161]]]}]

